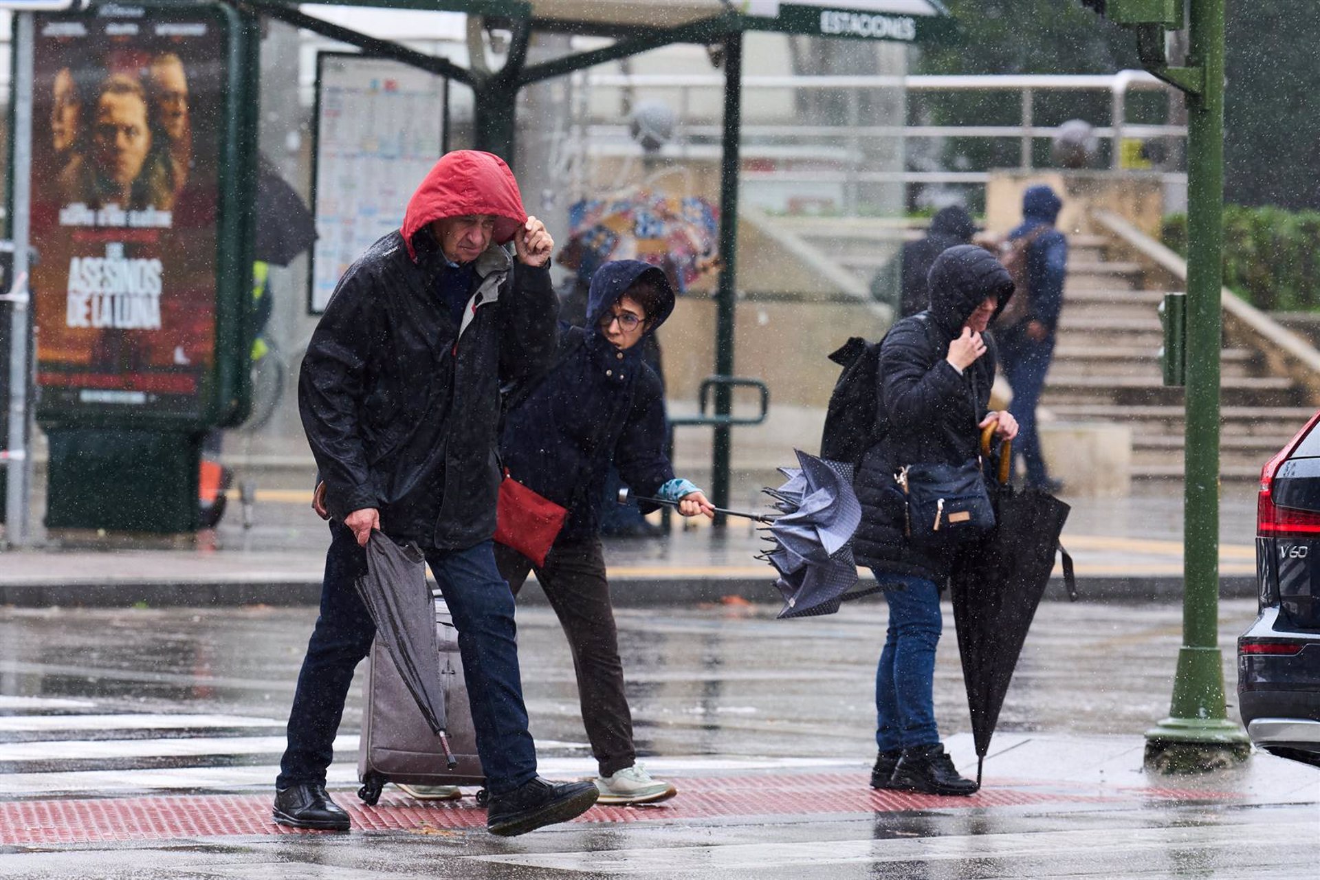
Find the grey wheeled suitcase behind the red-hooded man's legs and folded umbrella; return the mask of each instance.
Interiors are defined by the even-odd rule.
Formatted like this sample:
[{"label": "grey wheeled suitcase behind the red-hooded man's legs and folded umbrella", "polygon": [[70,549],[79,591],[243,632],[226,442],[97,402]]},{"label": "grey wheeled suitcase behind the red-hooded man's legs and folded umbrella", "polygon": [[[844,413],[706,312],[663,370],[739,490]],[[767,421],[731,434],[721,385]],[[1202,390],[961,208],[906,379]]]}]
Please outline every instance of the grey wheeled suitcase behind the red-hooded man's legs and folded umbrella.
[{"label": "grey wheeled suitcase behind the red-hooded man's legs and folded umbrella", "polygon": [[482,785],[486,777],[477,757],[477,734],[467,705],[467,682],[458,654],[458,631],[449,607],[436,591],[436,636],[445,691],[445,732],[453,769],[413,699],[389,652],[378,640],[367,661],[362,741],[358,745],[358,797],[374,805],[385,782],[405,785]]}]

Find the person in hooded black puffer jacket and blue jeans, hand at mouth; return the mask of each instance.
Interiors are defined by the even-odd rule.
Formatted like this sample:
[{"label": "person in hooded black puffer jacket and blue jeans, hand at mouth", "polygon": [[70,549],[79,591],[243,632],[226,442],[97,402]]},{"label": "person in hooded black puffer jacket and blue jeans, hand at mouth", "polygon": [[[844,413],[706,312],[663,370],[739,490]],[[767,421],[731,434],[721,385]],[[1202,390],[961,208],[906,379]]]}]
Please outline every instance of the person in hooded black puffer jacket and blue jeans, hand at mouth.
[{"label": "person in hooded black puffer jacket and blue jeans, hand at mouth", "polygon": [[888,429],[862,458],[854,486],[862,524],[853,537],[859,563],[884,586],[888,632],[875,677],[878,789],[972,794],[935,723],[935,649],[940,590],[952,554],[913,546],[904,534],[904,497],[894,476],[917,463],[962,464],[979,454],[981,429],[998,422],[1011,439],[1018,424],[989,410],[994,340],[983,335],[1012,294],[1012,278],[989,251],[958,245],[931,267],[931,307],[899,321],[880,346],[879,405]]}]

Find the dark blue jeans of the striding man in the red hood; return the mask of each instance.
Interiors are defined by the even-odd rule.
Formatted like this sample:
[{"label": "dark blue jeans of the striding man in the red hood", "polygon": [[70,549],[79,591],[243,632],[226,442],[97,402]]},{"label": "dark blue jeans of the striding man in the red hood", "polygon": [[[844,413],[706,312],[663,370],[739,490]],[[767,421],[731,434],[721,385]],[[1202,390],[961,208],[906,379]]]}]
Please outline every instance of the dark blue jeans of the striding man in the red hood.
[{"label": "dark blue jeans of the striding man in the red hood", "polygon": [[[330,530],[321,616],[298,673],[289,711],[289,745],[276,788],[325,782],[352,670],[371,650],[376,635],[352,586],[367,571],[367,554],[350,529],[331,524]],[[486,788],[491,794],[511,792],[536,776],[536,744],[527,731],[517,668],[513,594],[495,567],[490,541],[466,550],[428,550],[426,563],[458,631]]]}]

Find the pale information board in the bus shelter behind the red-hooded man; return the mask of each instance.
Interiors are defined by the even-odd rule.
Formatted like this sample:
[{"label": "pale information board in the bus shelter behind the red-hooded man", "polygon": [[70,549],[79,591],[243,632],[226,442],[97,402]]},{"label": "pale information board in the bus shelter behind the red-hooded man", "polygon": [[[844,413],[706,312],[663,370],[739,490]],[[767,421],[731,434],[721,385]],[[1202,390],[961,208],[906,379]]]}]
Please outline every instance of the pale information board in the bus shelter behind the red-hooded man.
[{"label": "pale information board in the bus shelter behind the red-hooded man", "polygon": [[446,148],[449,80],[371,55],[317,58],[309,311],[325,311],[341,276],[397,230],[413,190]]}]

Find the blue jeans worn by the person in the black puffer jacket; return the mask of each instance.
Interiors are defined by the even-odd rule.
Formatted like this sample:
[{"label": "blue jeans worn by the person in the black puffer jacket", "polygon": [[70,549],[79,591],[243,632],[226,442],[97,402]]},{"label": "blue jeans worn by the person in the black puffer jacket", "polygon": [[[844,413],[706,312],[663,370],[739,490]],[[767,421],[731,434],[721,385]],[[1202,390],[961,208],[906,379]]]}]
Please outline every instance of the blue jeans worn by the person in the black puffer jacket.
[{"label": "blue jeans worn by the person in the black puffer jacket", "polygon": [[940,741],[935,726],[935,646],[940,643],[940,588],[911,575],[875,571],[890,606],[875,672],[875,744],[882,752]]}]

